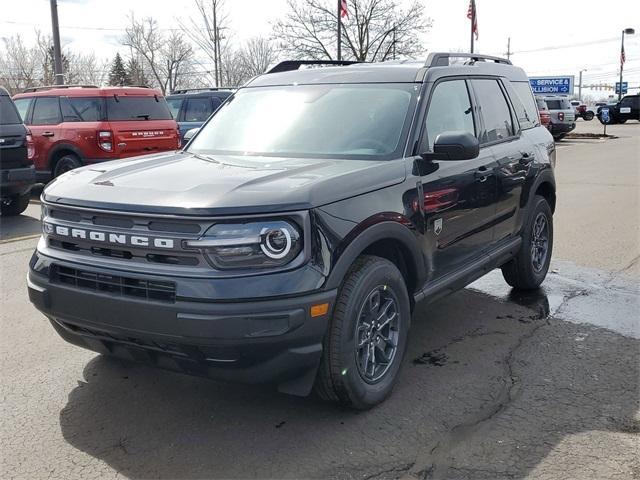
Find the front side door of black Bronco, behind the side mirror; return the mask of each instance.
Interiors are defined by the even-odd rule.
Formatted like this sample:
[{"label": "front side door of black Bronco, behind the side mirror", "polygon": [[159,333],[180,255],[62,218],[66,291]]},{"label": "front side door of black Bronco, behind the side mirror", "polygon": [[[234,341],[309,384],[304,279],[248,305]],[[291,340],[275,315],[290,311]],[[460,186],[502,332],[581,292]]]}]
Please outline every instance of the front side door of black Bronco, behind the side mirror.
[{"label": "front side door of black Bronco, behind the side mirror", "polygon": [[[464,131],[477,135],[478,117],[468,82],[453,78],[431,88],[419,151],[433,151],[443,132]],[[458,161],[418,161],[422,165],[421,190],[426,232],[423,250],[431,258],[432,278],[437,278],[480,257],[491,243],[495,214],[496,179],[491,148],[477,158]]]}]

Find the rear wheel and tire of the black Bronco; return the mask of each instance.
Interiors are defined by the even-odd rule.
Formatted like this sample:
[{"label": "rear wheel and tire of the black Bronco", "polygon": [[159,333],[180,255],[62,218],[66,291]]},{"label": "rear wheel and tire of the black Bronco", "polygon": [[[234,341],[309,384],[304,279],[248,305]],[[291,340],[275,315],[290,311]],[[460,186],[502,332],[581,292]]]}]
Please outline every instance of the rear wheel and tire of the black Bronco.
[{"label": "rear wheel and tire of the black Bronco", "polygon": [[[513,288],[534,290],[547,276],[553,252],[553,214],[544,197],[534,197],[527,222],[522,234],[522,246],[518,254],[502,266],[502,276]],[[538,247],[535,252],[534,244]],[[544,253],[541,253],[542,250]]]}]

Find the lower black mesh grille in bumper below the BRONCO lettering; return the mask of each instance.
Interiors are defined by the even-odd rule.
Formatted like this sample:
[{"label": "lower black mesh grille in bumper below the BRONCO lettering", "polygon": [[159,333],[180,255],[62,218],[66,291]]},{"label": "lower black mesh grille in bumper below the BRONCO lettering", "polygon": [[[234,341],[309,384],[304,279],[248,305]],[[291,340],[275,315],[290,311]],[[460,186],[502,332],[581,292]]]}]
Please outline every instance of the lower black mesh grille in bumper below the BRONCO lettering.
[{"label": "lower black mesh grille in bumper below the BRONCO lettering", "polygon": [[176,286],[173,282],[122,277],[61,265],[53,265],[50,275],[53,283],[83,290],[160,302],[174,303],[176,300]]}]

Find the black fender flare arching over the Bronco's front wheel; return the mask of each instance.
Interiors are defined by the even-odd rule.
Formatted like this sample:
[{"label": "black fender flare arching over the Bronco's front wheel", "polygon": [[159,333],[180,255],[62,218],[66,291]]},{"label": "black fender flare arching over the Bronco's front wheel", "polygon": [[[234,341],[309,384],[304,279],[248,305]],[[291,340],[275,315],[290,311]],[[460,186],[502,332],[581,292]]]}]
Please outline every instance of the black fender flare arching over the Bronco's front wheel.
[{"label": "black fender flare arching over the Bronco's front wheel", "polygon": [[[368,223],[368,221],[362,224]],[[361,225],[362,225],[361,224]],[[338,288],[347,274],[347,271],[362,252],[373,243],[379,240],[395,240],[401,243],[405,251],[409,254],[408,262],[416,271],[416,287],[422,286],[426,279],[426,268],[420,243],[413,231],[407,226],[391,220],[381,220],[378,223],[364,227],[356,227],[355,238],[351,240],[338,257],[336,264],[331,269],[329,278],[324,286],[325,289]],[[352,231],[353,232],[353,231]],[[412,295],[414,292],[409,292]]]}]

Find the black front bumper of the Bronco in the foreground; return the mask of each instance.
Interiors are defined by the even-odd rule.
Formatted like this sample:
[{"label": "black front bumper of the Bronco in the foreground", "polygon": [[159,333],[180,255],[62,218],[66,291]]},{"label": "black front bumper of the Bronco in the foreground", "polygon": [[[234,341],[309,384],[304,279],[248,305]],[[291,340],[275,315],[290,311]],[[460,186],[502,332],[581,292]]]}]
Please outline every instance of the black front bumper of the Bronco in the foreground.
[{"label": "black front bumper of the Bronco in the foreground", "polygon": [[[55,274],[34,269],[37,256],[28,275],[29,298],[72,344],[218,380],[277,384],[296,395],[311,390],[335,290],[241,302],[148,300],[92,289],[90,282],[61,283]],[[328,313],[311,317],[310,307],[322,303],[329,304]]]}]

